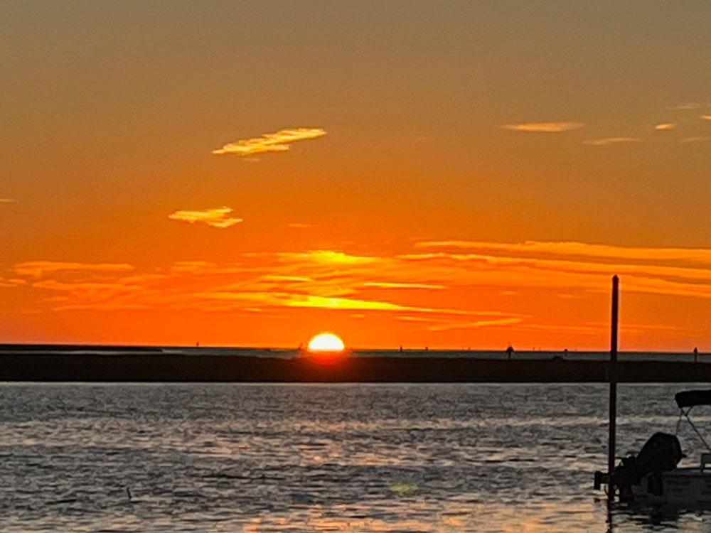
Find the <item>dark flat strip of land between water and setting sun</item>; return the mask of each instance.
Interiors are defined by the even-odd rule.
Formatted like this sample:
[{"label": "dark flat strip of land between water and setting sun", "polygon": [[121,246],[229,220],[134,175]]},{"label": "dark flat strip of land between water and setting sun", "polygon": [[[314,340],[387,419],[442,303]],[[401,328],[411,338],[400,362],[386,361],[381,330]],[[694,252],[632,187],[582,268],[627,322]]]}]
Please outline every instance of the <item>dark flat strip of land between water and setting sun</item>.
[{"label": "dark flat strip of land between water and setting sun", "polygon": [[[80,353],[77,353],[80,352]],[[608,363],[466,357],[184,355],[161,348],[0,345],[0,381],[33,382],[606,382]],[[618,363],[620,382],[711,382],[711,365]]]}]

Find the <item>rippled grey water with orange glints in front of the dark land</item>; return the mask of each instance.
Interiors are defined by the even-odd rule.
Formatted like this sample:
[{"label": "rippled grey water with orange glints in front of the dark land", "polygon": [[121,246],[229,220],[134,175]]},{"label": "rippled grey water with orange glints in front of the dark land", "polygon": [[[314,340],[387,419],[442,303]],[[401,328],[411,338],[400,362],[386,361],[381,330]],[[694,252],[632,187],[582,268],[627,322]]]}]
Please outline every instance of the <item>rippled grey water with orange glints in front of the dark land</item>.
[{"label": "rippled grey water with orange glints in front of the dark land", "polygon": [[[620,451],[673,432],[685,388],[621,386]],[[0,384],[0,402],[6,532],[607,529],[603,385]]]}]

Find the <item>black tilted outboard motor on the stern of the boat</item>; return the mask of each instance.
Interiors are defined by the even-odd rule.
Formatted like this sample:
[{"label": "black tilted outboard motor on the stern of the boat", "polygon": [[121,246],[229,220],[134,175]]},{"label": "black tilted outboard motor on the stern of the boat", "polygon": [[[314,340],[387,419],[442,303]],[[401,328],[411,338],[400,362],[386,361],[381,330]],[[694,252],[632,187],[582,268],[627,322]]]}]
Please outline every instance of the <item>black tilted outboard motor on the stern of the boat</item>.
[{"label": "black tilted outboard motor on the stern of the boat", "polygon": [[649,483],[649,490],[653,492],[655,487],[661,488],[661,473],[674,470],[683,457],[679,439],[675,435],[653,434],[636,456],[630,454],[615,467],[614,481],[619,487],[621,499],[631,495],[631,485],[639,485],[648,474],[653,474],[651,482],[659,482]]}]

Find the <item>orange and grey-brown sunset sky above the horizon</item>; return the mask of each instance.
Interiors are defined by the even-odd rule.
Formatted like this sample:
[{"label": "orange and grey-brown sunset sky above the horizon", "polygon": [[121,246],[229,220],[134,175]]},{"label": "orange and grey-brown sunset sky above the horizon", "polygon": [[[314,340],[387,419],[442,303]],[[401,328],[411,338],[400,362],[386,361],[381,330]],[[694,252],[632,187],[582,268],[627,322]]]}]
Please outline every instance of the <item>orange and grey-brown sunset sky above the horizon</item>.
[{"label": "orange and grey-brown sunset sky above the horizon", "polygon": [[0,342],[711,351],[708,1],[0,20]]}]

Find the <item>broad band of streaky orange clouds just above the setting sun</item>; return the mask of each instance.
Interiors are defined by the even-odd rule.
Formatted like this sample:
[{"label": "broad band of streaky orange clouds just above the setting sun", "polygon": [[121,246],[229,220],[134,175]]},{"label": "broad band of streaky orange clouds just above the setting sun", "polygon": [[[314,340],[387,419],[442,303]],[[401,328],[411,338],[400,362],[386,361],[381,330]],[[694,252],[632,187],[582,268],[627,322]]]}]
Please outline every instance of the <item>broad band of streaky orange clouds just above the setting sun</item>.
[{"label": "broad band of streaky orange clouds just above the setting sun", "polygon": [[[479,330],[483,337],[483,328],[599,335],[604,328],[585,323],[568,329],[573,318],[559,319],[563,313],[551,306],[566,307],[557,295],[602,301],[615,273],[629,294],[711,301],[710,248],[432,240],[415,243],[410,252],[423,253],[255,252],[235,262],[197,258],[129,273],[124,270],[132,266],[121,264],[28,262],[16,265],[16,275],[0,279],[0,286],[17,286],[24,278],[22,288],[2,290],[26,292],[47,311],[189,310],[284,320],[333,311],[343,320],[354,313],[377,315],[394,327],[454,336]],[[545,301],[540,294],[547,294]],[[575,307],[589,320],[601,320],[602,307]]]}]

